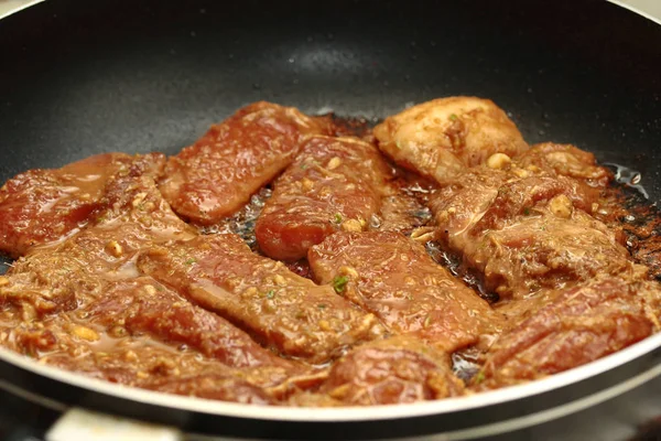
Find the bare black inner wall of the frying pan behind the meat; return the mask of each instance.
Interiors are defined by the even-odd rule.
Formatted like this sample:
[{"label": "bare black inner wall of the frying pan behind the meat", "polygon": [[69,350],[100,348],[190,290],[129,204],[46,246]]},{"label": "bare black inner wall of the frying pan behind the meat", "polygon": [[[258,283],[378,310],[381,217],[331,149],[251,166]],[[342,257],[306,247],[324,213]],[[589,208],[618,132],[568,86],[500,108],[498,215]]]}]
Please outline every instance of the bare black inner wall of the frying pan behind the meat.
[{"label": "bare black inner wall of the frying pan behind the meat", "polygon": [[661,26],[603,0],[48,0],[2,21],[0,63],[2,181],[173,153],[259,99],[382,118],[466,94],[661,195]]}]

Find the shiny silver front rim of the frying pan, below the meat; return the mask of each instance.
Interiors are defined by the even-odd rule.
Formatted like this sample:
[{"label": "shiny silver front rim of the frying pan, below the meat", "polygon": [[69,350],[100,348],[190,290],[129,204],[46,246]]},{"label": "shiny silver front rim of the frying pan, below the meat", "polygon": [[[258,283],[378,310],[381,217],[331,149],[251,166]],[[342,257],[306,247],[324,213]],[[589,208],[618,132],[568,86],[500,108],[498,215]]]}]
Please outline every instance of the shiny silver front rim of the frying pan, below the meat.
[{"label": "shiny silver front rim of the frying pan, below the meat", "polygon": [[[588,379],[622,366],[659,348],[661,348],[661,333],[651,335],[625,349],[586,365],[522,385],[505,387],[472,396],[444,398],[433,401],[367,407],[346,406],[336,408],[254,406],[145,390],[42,365],[28,356],[14,353],[7,348],[0,348],[0,361],[52,380],[64,383],[69,386],[76,386],[100,395],[129,399],[143,405],[159,406],[175,410],[270,421],[358,422],[367,420],[375,421],[437,416],[517,401]],[[639,373],[639,375],[643,374],[644,373]],[[657,376],[658,375],[661,375],[661,372],[657,373]],[[621,392],[625,391],[627,390],[621,390]],[[360,409],[360,411],[356,412],[356,409]]]}]

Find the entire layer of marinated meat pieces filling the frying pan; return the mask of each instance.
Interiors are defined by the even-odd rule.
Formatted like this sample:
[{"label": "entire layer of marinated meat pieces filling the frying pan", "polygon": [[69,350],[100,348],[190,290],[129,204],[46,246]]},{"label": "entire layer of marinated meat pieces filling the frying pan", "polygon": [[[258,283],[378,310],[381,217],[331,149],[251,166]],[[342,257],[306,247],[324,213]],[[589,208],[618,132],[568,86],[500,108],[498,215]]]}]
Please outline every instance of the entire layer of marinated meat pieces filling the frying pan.
[{"label": "entire layer of marinated meat pieces filling the frying pan", "polygon": [[658,214],[630,211],[611,178],[574,146],[529,148],[488,100],[433,100],[373,135],[257,103],[170,160],[10,180],[0,246],[23,256],[0,276],[0,345],[260,406],[534,380],[661,331],[639,265],[659,262],[629,254],[655,246]]}]

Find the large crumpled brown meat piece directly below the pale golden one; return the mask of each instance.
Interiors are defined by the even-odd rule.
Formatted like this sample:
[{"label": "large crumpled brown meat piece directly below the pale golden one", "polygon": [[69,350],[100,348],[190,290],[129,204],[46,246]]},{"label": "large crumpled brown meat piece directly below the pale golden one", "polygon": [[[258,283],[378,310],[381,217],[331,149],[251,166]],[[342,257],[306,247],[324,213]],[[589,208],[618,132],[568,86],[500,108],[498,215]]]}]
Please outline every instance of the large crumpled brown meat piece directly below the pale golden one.
[{"label": "large crumpled brown meat piece directly below the pale golden one", "polygon": [[574,179],[512,165],[474,169],[430,206],[440,241],[481,272],[486,289],[522,299],[597,273],[640,270],[621,236],[588,214],[597,198]]}]

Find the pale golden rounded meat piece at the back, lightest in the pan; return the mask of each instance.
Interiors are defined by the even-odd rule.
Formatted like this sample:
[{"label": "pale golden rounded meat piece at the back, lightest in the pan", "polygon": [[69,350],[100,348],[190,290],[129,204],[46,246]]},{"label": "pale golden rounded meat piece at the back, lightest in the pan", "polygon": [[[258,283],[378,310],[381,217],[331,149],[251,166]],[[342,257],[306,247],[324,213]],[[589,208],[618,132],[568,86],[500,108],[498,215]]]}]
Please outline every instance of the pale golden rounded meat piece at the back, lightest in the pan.
[{"label": "pale golden rounded meat piece at the back, lightest in the pan", "polygon": [[449,97],[411,107],[375,128],[379,149],[441,184],[467,168],[528,149],[507,115],[488,99]]}]

